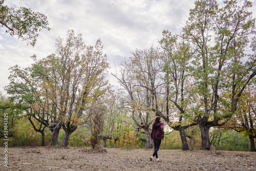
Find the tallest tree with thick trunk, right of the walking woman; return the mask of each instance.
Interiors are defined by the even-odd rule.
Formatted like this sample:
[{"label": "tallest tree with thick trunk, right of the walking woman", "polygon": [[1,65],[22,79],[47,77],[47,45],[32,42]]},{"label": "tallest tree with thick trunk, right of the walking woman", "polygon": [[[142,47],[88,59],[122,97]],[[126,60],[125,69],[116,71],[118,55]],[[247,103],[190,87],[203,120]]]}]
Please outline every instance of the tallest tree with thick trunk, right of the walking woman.
[{"label": "tallest tree with thick trunk, right of the walking woman", "polygon": [[[246,0],[225,1],[220,9],[215,0],[196,1],[195,5],[183,31],[184,37],[196,45],[197,54],[191,72],[196,80],[195,94],[201,100],[192,115],[200,127],[202,147],[210,149],[209,128],[225,124],[225,119],[233,115],[256,74],[255,59],[245,58],[255,20],[248,12],[251,2]],[[232,92],[228,105],[220,96],[227,90]]]}]

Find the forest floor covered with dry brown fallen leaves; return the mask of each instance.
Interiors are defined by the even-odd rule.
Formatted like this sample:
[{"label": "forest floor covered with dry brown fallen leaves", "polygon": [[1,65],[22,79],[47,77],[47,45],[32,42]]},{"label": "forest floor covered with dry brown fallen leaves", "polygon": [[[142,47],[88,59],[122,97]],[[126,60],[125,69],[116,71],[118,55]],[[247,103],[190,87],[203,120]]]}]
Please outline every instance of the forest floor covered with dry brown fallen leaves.
[{"label": "forest floor covered with dry brown fallen leaves", "polygon": [[0,170],[256,170],[252,152],[160,149],[157,162],[153,149],[20,147],[8,148],[6,167],[0,151]]}]

